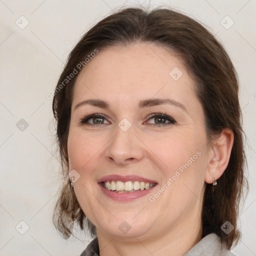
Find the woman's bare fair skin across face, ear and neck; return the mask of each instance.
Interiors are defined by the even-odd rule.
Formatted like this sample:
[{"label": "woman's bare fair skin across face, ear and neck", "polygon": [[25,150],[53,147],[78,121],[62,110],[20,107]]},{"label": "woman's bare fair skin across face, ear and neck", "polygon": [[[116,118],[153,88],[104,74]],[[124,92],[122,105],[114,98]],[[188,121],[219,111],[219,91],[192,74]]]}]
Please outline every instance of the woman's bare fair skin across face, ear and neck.
[{"label": "woman's bare fair skin across face, ear and neck", "polygon": [[[169,75],[174,67],[182,71],[176,81]],[[214,140],[207,139],[194,86],[182,61],[153,43],[108,47],[79,73],[71,107],[68,168],[80,175],[74,192],[96,226],[100,256],[180,256],[201,239],[205,182],[219,178],[226,168],[233,134],[225,129]],[[170,98],[185,110],[173,104],[139,108],[145,98]],[[89,104],[75,108],[86,99],[107,101],[110,108]],[[104,123],[80,123],[93,113],[106,115]],[[149,119],[152,113],[165,113],[176,122],[163,119],[159,126],[157,118]],[[127,131],[118,127],[123,118],[131,124]],[[200,156],[158,198],[149,201],[197,151]],[[114,201],[97,184],[109,174],[139,175],[158,184],[135,200]],[[118,228],[123,221],[130,225],[125,234]]]}]

